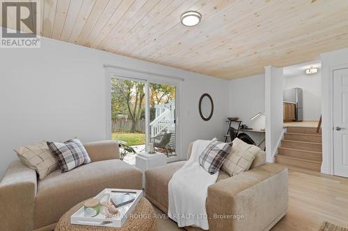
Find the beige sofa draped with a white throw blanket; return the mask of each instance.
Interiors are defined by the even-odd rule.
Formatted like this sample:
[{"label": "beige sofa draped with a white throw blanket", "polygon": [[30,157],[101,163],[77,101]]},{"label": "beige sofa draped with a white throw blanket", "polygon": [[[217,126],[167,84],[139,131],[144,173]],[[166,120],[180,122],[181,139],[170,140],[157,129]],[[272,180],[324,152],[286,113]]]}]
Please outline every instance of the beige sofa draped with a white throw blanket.
[{"label": "beige sofa draped with a white throw blanket", "polygon": [[[192,145],[187,158],[191,155],[191,148]],[[168,212],[168,182],[184,163],[174,162],[145,171],[145,196],[163,212]],[[287,175],[286,168],[266,164],[263,151],[256,155],[249,171],[232,177],[220,171],[216,183],[208,188],[205,203],[209,230],[270,230],[287,210]],[[233,219],[228,215],[243,215],[244,219]]]}]

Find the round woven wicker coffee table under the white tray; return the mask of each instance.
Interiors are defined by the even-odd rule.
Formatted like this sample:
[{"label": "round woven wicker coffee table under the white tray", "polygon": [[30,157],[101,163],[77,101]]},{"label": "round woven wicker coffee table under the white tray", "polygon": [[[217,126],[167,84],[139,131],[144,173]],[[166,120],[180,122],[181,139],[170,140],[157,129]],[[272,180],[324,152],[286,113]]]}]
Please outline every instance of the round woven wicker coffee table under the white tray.
[{"label": "round woven wicker coffee table under the white tray", "polygon": [[[157,224],[155,219],[155,210],[151,203],[146,198],[141,198],[138,205],[134,208],[132,214],[134,217],[129,217],[127,221],[122,225],[122,228],[110,228],[90,225],[72,225],[70,223],[70,216],[77,212],[82,207],[84,202],[75,205],[66,212],[61,219],[59,219],[54,231],[130,231],[130,230],[143,230],[143,231],[156,231]],[[153,216],[152,216],[153,215]]]}]

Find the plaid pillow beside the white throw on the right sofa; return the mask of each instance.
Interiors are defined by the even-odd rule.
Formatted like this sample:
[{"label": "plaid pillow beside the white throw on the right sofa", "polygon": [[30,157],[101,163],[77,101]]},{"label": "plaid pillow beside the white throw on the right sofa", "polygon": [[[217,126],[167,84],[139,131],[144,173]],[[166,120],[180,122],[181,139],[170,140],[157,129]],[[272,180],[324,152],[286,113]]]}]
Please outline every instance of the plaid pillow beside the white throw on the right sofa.
[{"label": "plaid pillow beside the white throw on the right sofa", "polygon": [[228,157],[231,147],[232,142],[211,142],[207,148],[205,148],[205,151],[203,151],[199,156],[200,166],[203,166],[203,168],[210,174],[216,173]]}]

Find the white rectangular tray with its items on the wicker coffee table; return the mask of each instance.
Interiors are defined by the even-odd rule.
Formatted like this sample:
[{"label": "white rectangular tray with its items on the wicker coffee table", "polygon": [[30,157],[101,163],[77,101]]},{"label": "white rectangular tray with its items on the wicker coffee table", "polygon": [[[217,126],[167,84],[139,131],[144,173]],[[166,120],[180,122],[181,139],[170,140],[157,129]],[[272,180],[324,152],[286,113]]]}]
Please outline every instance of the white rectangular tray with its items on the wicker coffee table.
[{"label": "white rectangular tray with its items on the wicker coffee table", "polygon": [[72,224],[120,228],[143,197],[142,190],[104,189],[70,217]]}]

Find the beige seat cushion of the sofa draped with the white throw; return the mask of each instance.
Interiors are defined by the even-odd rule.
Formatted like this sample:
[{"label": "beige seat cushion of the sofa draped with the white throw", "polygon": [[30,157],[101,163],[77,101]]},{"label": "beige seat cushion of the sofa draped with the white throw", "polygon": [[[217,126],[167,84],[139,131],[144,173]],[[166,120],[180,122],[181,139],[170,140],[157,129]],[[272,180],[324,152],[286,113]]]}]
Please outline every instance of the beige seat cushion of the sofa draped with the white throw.
[{"label": "beige seat cushion of the sofa draped with the white throw", "polygon": [[[186,161],[173,162],[145,171],[145,196],[163,212],[168,212],[168,183],[175,171],[179,170]],[[229,178],[224,171],[219,171],[216,182]]]}]

